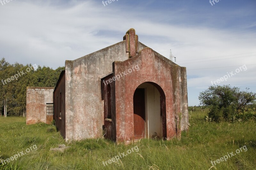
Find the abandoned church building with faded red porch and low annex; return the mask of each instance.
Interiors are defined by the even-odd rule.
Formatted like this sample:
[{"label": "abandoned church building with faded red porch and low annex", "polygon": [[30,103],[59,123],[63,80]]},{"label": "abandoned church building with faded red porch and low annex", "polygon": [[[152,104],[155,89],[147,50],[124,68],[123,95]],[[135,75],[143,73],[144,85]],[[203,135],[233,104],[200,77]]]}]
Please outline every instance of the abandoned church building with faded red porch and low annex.
[{"label": "abandoned church building with faded red porch and low annex", "polygon": [[180,137],[188,128],[186,68],[130,29],[121,42],[67,60],[55,88],[27,88],[27,124],[52,119],[66,140]]}]

